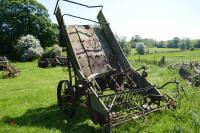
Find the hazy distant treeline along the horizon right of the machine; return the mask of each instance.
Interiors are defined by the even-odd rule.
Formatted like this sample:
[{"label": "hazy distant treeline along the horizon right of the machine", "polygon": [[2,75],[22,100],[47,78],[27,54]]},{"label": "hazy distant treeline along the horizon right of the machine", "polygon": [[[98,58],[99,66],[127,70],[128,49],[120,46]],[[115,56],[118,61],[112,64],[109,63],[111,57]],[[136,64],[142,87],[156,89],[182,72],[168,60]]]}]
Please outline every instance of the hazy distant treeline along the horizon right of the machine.
[{"label": "hazy distant treeline along the horizon right of the machine", "polygon": [[126,55],[131,51],[131,48],[136,48],[138,54],[147,53],[146,48],[180,48],[181,50],[193,50],[194,48],[200,48],[200,39],[191,40],[190,38],[174,37],[168,41],[156,41],[154,39],[142,38],[139,35],[134,35],[130,40],[127,40],[125,36],[120,37],[115,35],[122,50]]}]

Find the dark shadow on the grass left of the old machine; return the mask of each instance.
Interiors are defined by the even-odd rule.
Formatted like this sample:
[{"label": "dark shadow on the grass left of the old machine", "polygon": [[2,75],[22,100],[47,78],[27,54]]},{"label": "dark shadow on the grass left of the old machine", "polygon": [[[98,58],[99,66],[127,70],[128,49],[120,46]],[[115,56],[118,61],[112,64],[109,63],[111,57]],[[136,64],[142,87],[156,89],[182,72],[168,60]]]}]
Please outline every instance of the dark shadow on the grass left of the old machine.
[{"label": "dark shadow on the grass left of the old machine", "polygon": [[63,114],[57,105],[46,108],[30,109],[19,117],[4,117],[3,123],[17,126],[45,127],[58,129],[63,133],[97,133],[100,129],[89,124],[86,108],[78,107],[74,117],[69,118]]}]

